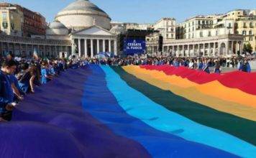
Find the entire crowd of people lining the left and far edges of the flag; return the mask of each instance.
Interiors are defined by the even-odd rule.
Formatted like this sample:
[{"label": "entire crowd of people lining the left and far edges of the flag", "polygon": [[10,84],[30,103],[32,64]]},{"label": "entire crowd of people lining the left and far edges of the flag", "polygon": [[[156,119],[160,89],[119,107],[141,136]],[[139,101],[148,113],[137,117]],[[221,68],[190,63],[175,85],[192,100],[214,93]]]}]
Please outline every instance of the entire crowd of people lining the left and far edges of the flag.
[{"label": "entire crowd of people lining the left and far edges of the flag", "polygon": [[173,65],[184,66],[189,69],[201,70],[210,73],[209,68],[214,68],[214,73],[221,73],[221,67],[239,68],[250,73],[250,64],[244,59],[206,58],[206,57],[104,57],[78,59],[42,60],[20,59],[15,60],[12,55],[1,59],[0,70],[0,121],[10,121],[12,110],[29,93],[36,93],[35,87],[44,85],[58,77],[68,68],[78,68],[88,64],[97,65]]}]

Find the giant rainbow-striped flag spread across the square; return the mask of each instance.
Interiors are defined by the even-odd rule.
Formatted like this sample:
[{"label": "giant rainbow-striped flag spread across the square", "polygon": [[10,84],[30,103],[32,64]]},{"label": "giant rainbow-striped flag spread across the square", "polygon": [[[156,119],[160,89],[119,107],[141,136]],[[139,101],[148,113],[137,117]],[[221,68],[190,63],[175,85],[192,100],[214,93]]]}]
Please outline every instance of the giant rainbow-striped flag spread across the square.
[{"label": "giant rainbow-striped flag spread across the square", "polygon": [[256,157],[256,74],[88,65],[0,123],[0,157]]}]

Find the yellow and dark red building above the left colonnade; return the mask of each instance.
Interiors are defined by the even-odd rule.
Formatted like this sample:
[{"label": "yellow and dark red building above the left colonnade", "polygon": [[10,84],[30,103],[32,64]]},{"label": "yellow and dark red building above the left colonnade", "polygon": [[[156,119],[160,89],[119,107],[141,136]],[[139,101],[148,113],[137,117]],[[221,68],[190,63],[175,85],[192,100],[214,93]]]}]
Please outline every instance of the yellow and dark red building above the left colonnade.
[{"label": "yellow and dark red building above the left colonnade", "polygon": [[41,14],[17,4],[0,4],[1,31],[6,35],[31,37],[45,35],[46,22]]}]

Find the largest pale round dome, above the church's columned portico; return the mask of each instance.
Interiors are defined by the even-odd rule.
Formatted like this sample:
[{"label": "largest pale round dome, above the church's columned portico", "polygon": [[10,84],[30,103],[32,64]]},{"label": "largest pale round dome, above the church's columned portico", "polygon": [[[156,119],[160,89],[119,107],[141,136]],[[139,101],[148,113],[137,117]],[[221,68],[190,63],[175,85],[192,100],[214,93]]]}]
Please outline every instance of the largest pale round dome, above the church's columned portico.
[{"label": "largest pale round dome, above the church's columned portico", "polygon": [[61,10],[55,17],[68,29],[84,29],[94,24],[110,29],[110,17],[105,11],[88,0],[76,0]]}]

